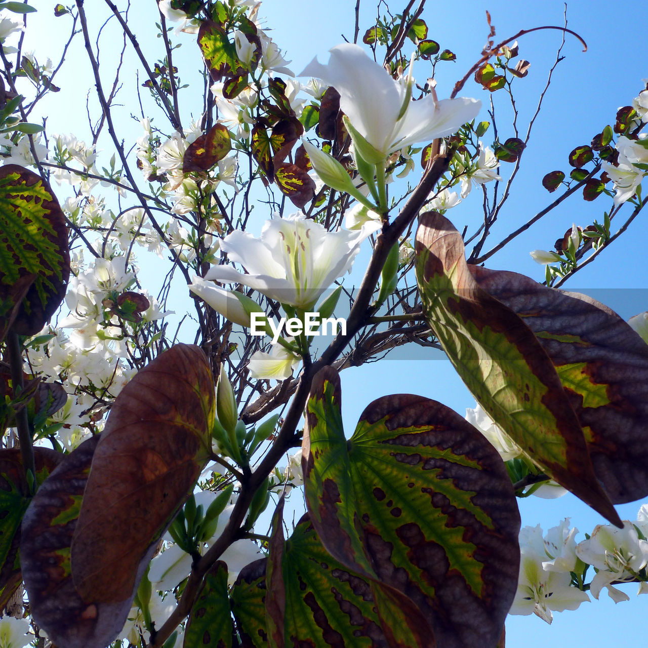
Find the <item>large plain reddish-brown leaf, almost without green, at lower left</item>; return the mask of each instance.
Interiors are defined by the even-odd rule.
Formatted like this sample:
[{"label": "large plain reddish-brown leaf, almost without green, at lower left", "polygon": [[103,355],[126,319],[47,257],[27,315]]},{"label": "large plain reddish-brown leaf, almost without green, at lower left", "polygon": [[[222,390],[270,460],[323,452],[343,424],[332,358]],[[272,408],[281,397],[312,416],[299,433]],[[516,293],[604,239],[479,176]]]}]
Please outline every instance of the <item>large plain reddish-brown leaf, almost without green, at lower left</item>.
[{"label": "large plain reddish-brown leaf, almost without green, at lower left", "polygon": [[72,543],[88,601],[131,596],[136,573],[211,453],[214,383],[203,351],[178,344],[121,391],[97,446]]}]

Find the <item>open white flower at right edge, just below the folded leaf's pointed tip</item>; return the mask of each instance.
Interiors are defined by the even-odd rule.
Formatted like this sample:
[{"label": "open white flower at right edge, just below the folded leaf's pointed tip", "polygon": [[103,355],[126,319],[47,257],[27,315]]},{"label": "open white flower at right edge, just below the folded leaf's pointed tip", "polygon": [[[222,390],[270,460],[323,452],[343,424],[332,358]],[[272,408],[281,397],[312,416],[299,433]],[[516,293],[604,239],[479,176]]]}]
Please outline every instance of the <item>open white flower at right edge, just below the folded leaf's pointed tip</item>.
[{"label": "open white flower at right edge, just below the folded leaf's pointed tip", "polygon": [[592,536],[576,547],[576,555],[598,572],[590,591],[598,598],[606,587],[615,603],[629,599],[625,592],[612,587],[612,581],[632,581],[648,564],[648,542],[640,540],[634,524],[624,520],[623,529],[599,524]]}]

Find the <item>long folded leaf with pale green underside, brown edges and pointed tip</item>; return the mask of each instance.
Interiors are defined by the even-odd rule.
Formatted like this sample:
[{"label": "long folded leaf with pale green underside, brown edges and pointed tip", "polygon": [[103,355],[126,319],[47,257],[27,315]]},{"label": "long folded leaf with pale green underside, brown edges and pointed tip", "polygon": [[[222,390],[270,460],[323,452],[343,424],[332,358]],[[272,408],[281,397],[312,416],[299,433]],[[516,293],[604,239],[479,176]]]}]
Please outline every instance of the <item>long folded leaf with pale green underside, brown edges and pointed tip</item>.
[{"label": "long folded leaf with pale green underside, brown edges and pointed tip", "polygon": [[540,469],[621,524],[549,356],[515,312],[478,286],[452,223],[423,214],[415,250],[423,312],[467,388]]}]

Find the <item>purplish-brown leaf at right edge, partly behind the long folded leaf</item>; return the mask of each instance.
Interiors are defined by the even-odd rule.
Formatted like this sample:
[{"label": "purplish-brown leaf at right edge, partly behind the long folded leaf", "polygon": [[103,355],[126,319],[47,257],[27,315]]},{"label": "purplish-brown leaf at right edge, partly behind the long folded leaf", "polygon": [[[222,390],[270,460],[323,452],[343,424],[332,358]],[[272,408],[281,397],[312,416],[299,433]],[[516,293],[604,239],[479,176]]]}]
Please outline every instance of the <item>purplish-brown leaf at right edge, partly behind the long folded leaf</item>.
[{"label": "purplish-brown leaf at right edge, partly behind the long folded leaf", "polygon": [[470,266],[549,354],[576,412],[594,471],[614,503],[648,495],[648,345],[591,297],[515,272]]}]

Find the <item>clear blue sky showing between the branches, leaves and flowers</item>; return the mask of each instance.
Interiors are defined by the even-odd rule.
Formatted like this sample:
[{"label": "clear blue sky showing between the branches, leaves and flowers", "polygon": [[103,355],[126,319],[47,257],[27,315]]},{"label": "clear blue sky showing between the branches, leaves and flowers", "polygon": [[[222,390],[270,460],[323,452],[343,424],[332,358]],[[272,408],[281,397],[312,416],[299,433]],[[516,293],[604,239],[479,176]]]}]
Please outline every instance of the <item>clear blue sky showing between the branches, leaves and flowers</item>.
[{"label": "clear blue sky showing between the branches, leaves and flowers", "polygon": [[[49,11],[49,5],[54,6],[54,3],[47,2],[34,4],[39,8],[42,5],[45,12]],[[157,45],[154,30],[146,28],[146,23],[156,14],[154,2],[137,0],[133,4],[137,4],[133,7],[133,29],[146,51],[147,47]],[[86,10],[90,12],[92,5],[86,3]],[[428,23],[429,38],[437,40],[442,49],[450,49],[457,55],[456,62],[439,64],[437,67],[439,98],[450,94],[454,82],[480,56],[488,34],[486,9],[491,12],[498,40],[513,36],[520,29],[563,23],[564,3],[559,0],[498,0],[492,3],[481,0],[462,3],[428,1],[428,5],[422,17]],[[286,58],[292,59],[290,67],[299,73],[313,56],[317,55],[321,62],[325,62],[327,50],[340,43],[342,35],[349,40],[353,38],[354,6],[354,0],[265,0],[260,14],[268,18],[267,27],[273,29],[271,35],[286,51]],[[395,4],[393,9],[398,9]],[[361,34],[371,26],[373,15],[375,3],[363,1]],[[45,21],[34,18],[34,25],[38,25],[39,29],[32,32],[27,41],[30,47],[36,49],[37,55],[39,52],[43,56],[51,55],[47,51],[48,44],[62,38],[62,30],[56,25],[64,23],[56,23],[56,29],[52,29],[51,12],[48,16]],[[532,136],[524,153],[522,170],[508,207],[493,228],[493,243],[551,202],[550,194],[540,185],[542,176],[554,169],[568,172],[568,153],[577,145],[589,143],[593,135],[613,122],[618,107],[629,104],[642,89],[642,78],[648,77],[648,58],[645,56],[648,3],[623,5],[608,0],[575,0],[568,3],[567,17],[569,27],[587,41],[588,52],[582,52],[579,42],[567,37],[563,51],[566,58],[555,73],[546,105],[535,126],[535,136]],[[181,36],[179,40],[183,47],[177,52],[178,57],[189,56],[190,48],[195,47],[193,37]],[[531,62],[529,75],[517,84],[522,124],[535,110],[538,93],[544,86],[548,67],[555,59],[560,41],[561,34],[550,31],[529,34],[519,40],[520,57]],[[120,46],[119,40],[111,44],[106,42],[106,60],[114,60],[115,48]],[[92,89],[93,82],[87,60],[79,47],[71,50],[68,61],[71,65],[66,66],[67,72],[61,75],[62,83],[57,81],[57,84],[66,89],[76,84],[76,98],[61,106],[60,102],[57,103],[56,95],[52,95],[50,119],[54,124],[60,124],[57,128],[61,132],[76,132],[77,125],[85,121],[86,93]],[[414,74],[419,79],[426,78],[424,65],[416,67]],[[191,79],[191,75],[187,75],[186,80]],[[132,84],[132,79],[127,82]],[[488,93],[472,81],[466,84],[461,94],[481,98],[484,104],[489,100]],[[200,105],[202,102],[198,98],[196,106]],[[126,111],[122,117],[124,119],[118,124],[121,136],[134,143],[135,137],[141,135],[139,124],[130,121]],[[485,108],[480,119],[488,119]],[[505,120],[500,122],[499,127],[500,137],[508,136]],[[485,143],[489,143],[487,137]],[[470,231],[478,224],[481,205],[476,193],[470,196],[471,200],[448,213],[458,229],[467,224]],[[489,267],[516,270],[542,281],[544,268],[531,260],[529,251],[551,249],[555,239],[572,223],[584,227],[594,218],[600,220],[603,209],[608,208],[604,207],[606,200],[609,205],[611,200],[605,197],[598,198],[594,203],[584,203],[577,197],[566,201],[560,209],[546,216],[505,251],[489,260]],[[647,234],[645,216],[640,216],[625,237],[605,251],[597,262],[579,272],[565,287],[570,290],[609,289],[597,297],[609,303],[624,318],[647,310]],[[356,264],[359,262],[360,257]],[[343,411],[349,434],[364,407],[371,400],[388,393],[419,393],[439,400],[462,414],[467,407],[474,406],[474,399],[448,362],[425,358],[422,349],[420,354],[421,360],[388,360],[343,373]],[[640,504],[637,502],[619,507],[621,517],[634,519]],[[603,522],[596,513],[572,496],[559,500],[529,498],[521,501],[520,507],[523,524],[539,523],[545,530],[571,515],[572,523],[581,530],[581,538],[582,533],[591,532],[596,524]],[[572,648],[575,643],[591,647],[645,645],[644,619],[648,597],[635,597],[635,584],[626,586],[626,590],[631,596],[629,603],[620,603],[615,607],[603,594],[600,601],[584,603],[575,612],[555,614],[551,627],[535,616],[509,618],[507,645],[512,648],[546,648],[548,645]]]}]

